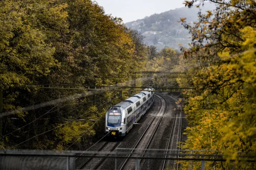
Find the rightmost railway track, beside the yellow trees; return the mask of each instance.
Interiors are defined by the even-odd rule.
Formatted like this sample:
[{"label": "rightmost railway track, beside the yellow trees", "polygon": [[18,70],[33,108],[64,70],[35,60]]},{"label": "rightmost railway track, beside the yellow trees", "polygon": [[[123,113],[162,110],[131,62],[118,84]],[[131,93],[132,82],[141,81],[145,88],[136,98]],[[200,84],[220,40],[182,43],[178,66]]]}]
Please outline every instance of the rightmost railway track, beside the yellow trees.
[{"label": "rightmost railway track, beside the yellow trees", "polygon": [[[171,133],[166,149],[167,153],[173,153],[173,154],[179,154],[180,153],[180,142],[181,142],[181,130],[182,130],[182,119],[183,119],[183,106],[180,105],[178,107],[178,99],[173,98],[170,95],[166,95],[169,98],[173,99],[173,101],[176,103],[176,110],[174,115],[174,121],[171,128]],[[178,111],[178,109],[180,111]],[[179,143],[178,149],[177,149],[177,143]],[[169,149],[177,149],[178,151],[168,151]],[[163,167],[160,167],[160,169],[164,170],[170,168],[170,169],[178,169],[178,163],[175,164],[174,160],[166,159],[167,157],[173,157],[173,156],[165,156]],[[179,157],[179,156],[178,156]],[[178,159],[177,157],[177,159]]]}]

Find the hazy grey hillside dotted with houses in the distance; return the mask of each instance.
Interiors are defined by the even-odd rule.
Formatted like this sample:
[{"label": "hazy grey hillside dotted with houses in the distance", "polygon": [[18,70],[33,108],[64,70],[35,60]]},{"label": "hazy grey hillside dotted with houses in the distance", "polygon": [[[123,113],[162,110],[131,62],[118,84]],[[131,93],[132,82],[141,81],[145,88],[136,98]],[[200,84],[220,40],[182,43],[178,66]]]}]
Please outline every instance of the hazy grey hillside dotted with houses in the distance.
[{"label": "hazy grey hillside dotted with houses in the distance", "polygon": [[[202,11],[213,10],[214,5],[206,3]],[[160,14],[153,14],[150,17],[138,19],[126,23],[129,28],[141,31],[144,35],[147,45],[157,46],[157,50],[165,46],[178,49],[179,45],[187,46],[190,43],[190,34],[184,29],[181,23],[178,23],[180,18],[187,18],[188,22],[197,20],[198,8],[176,8],[175,10],[166,11]],[[156,41],[157,40],[157,41]]]}]

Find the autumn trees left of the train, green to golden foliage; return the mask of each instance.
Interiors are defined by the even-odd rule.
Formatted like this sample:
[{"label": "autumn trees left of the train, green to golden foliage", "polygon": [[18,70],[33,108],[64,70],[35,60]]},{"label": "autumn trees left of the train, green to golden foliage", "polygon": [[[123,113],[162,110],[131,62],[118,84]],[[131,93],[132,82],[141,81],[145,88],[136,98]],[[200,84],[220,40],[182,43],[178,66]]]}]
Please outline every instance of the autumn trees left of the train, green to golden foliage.
[{"label": "autumn trees left of the train, green to golden foliage", "polygon": [[33,84],[129,85],[102,76],[178,63],[177,51],[147,47],[144,36],[91,0],[3,0],[0,18],[2,112],[16,110],[0,119],[2,149],[86,149],[104,134],[106,110],[131,95]]}]

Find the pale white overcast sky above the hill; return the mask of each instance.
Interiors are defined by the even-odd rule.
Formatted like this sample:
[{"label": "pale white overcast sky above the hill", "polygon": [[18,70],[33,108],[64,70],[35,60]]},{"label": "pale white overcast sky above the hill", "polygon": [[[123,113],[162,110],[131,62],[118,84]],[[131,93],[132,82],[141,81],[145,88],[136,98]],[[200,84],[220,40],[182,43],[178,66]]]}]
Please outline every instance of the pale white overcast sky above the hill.
[{"label": "pale white overcast sky above the hill", "polygon": [[184,0],[95,0],[106,14],[120,17],[124,23],[184,7]]}]

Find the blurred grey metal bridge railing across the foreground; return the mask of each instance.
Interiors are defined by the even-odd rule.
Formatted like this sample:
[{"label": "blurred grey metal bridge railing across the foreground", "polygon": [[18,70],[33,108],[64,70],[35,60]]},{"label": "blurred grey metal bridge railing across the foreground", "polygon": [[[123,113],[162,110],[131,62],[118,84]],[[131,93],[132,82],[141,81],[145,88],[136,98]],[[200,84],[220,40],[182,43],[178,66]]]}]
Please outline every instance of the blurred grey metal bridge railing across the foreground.
[{"label": "blurred grey metal bridge railing across the foreground", "polygon": [[[0,150],[0,169],[4,170],[75,170],[76,157],[101,157],[115,159],[135,159],[135,167],[140,169],[140,159],[174,160],[174,161],[200,161],[201,169],[205,168],[205,161],[235,162],[227,160],[222,151],[209,150],[178,150],[170,149],[135,149],[117,148],[113,152],[96,151],[53,151],[53,150]],[[230,152],[232,153],[232,152]],[[128,157],[128,155],[131,155]],[[238,152],[238,157],[245,162],[255,163],[255,157],[244,156]],[[143,157],[142,157],[143,155]],[[115,161],[116,162],[116,161]],[[115,167],[117,167],[115,165]]]}]

